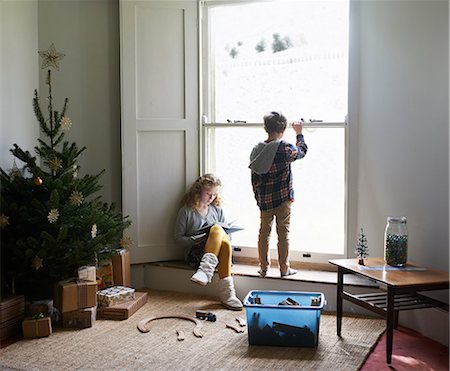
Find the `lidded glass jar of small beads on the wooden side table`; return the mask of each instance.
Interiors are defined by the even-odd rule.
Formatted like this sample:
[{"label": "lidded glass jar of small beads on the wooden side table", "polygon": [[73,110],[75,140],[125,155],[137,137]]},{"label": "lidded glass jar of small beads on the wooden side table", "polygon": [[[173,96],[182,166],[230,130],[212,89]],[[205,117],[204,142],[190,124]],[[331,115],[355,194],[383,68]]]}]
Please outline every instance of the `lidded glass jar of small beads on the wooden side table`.
[{"label": "lidded glass jar of small beads on the wooden side table", "polygon": [[389,216],[384,233],[384,261],[402,267],[408,260],[408,230],[404,216]]}]

